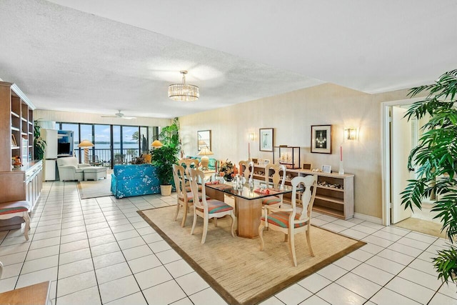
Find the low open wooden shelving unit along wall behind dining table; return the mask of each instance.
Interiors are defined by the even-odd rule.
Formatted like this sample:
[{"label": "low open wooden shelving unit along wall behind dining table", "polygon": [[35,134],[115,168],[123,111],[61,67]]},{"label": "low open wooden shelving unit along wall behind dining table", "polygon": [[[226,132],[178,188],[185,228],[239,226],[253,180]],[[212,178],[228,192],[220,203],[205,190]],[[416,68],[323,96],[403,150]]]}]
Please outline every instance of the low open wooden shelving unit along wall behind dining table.
[{"label": "low open wooden shelving unit along wall behind dining table", "polygon": [[[290,184],[295,176],[318,176],[316,198],[314,199],[313,211],[338,217],[350,219],[354,214],[354,175],[333,174],[304,169],[286,169],[286,184]],[[269,175],[268,175],[269,176]],[[265,179],[265,166],[254,165],[254,179]],[[283,196],[284,201],[290,201],[290,195]]]}]

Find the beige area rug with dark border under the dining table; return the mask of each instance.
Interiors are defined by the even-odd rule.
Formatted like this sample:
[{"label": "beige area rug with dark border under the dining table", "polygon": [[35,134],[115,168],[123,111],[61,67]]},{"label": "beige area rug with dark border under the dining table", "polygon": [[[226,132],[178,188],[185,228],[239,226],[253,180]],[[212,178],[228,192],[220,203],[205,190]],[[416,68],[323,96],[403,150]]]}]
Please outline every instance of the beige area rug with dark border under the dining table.
[{"label": "beige area rug with dark border under the dining table", "polygon": [[306,235],[296,236],[297,267],[293,267],[284,235],[264,231],[264,251],[259,239],[231,237],[231,219],[209,224],[205,244],[201,244],[203,221],[199,218],[190,235],[193,216],[181,228],[181,215],[173,221],[176,206],[138,213],[177,251],[229,304],[257,304],[303,277],[340,259],[365,243],[313,226],[309,254]]}]

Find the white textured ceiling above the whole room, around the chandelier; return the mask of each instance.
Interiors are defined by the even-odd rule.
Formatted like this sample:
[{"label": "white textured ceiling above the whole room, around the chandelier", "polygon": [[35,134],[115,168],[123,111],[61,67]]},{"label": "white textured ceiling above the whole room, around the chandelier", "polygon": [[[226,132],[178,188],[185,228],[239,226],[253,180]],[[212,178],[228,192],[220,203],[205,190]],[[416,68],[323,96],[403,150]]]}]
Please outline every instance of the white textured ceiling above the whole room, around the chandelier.
[{"label": "white textured ceiling above the whole room, around the chandelier", "polygon": [[[332,82],[376,93],[456,68],[453,0],[2,0],[0,78],[39,109],[170,118]],[[167,87],[200,86],[196,102]]]}]

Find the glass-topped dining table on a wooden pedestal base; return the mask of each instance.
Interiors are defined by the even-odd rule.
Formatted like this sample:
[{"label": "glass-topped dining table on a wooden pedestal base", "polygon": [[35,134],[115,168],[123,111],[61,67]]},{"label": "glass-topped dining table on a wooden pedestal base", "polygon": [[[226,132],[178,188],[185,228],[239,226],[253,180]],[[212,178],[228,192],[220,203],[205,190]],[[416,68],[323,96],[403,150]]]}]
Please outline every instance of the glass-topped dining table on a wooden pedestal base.
[{"label": "glass-topped dining table on a wooden pedestal base", "polygon": [[236,234],[240,237],[254,239],[258,236],[258,226],[262,216],[262,201],[268,196],[288,194],[292,186],[283,186],[281,189],[267,187],[265,181],[254,180],[253,184],[242,184],[237,187],[230,182],[219,183],[211,181],[205,184],[206,195],[211,199],[224,201],[225,194],[235,199]]}]

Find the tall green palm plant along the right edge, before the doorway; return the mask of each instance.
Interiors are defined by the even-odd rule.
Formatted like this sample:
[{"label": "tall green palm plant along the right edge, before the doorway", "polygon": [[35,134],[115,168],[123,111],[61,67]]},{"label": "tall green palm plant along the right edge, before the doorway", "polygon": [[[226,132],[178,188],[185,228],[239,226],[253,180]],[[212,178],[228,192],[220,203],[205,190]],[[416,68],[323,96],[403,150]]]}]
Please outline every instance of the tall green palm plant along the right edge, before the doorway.
[{"label": "tall green palm plant along the right edge, before the doorway", "polygon": [[443,74],[434,84],[418,86],[409,91],[413,97],[428,92],[422,101],[416,101],[406,112],[408,120],[421,119],[428,114],[429,121],[421,128],[423,134],[411,150],[408,166],[418,166],[418,178],[408,181],[402,193],[402,204],[421,209],[422,199],[436,194],[431,211],[440,219],[442,231],[450,244],[438,251],[433,259],[438,278],[456,281],[457,247],[453,244],[457,234],[457,69]]}]

